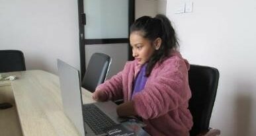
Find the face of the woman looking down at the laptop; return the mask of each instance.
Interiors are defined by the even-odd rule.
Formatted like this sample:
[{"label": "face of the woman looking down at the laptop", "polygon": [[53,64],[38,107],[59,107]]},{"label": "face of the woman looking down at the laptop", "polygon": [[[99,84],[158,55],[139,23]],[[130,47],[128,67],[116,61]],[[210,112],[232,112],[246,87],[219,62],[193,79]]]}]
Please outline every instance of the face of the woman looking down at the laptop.
[{"label": "face of the woman looking down at the laptop", "polygon": [[140,65],[148,62],[155,51],[155,47],[148,39],[143,38],[140,32],[130,34],[130,45],[132,46],[132,56]]}]

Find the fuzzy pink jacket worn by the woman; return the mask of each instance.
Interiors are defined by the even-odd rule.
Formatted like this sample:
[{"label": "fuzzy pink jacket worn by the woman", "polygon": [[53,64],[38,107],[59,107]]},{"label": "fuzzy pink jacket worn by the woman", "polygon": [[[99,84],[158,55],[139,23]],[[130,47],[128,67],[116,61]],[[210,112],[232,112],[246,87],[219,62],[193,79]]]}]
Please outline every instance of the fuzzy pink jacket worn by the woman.
[{"label": "fuzzy pink jacket worn by the woman", "polygon": [[[191,90],[188,81],[189,63],[177,51],[157,63],[144,90],[133,98],[134,108],[146,123],[146,131],[152,136],[188,136],[192,116],[188,110]],[[132,84],[140,71],[137,61],[128,61],[124,69],[97,87],[108,100],[124,99],[129,102]]]}]

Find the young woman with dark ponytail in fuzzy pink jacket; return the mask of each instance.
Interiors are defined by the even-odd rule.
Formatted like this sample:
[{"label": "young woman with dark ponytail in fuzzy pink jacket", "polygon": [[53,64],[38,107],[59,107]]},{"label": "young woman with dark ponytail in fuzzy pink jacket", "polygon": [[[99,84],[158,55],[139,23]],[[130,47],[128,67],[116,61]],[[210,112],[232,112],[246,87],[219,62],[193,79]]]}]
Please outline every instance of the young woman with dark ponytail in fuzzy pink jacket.
[{"label": "young woman with dark ponytail in fuzzy pink jacket", "polygon": [[134,61],[99,85],[93,99],[123,98],[118,116],[140,116],[152,136],[189,135],[189,63],[178,51],[171,22],[164,15],[138,18],[130,28],[130,45]]}]

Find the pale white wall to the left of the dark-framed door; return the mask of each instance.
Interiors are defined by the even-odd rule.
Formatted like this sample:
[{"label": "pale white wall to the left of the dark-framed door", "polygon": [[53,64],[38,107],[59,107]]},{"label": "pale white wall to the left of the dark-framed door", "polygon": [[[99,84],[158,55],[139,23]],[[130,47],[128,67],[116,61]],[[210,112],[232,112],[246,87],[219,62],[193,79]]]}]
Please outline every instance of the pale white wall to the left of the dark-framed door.
[{"label": "pale white wall to the left of the dark-framed door", "polygon": [[77,1],[0,0],[0,50],[22,50],[26,69],[57,74],[57,58],[77,69]]}]

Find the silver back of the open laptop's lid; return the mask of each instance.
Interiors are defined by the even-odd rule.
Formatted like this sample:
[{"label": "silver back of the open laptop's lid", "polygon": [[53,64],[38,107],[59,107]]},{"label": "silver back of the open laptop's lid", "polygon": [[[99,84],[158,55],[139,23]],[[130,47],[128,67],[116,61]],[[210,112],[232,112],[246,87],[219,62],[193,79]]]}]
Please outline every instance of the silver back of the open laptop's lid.
[{"label": "silver back of the open laptop's lid", "polygon": [[64,112],[77,127],[79,133],[85,135],[79,71],[58,59],[58,74]]}]

